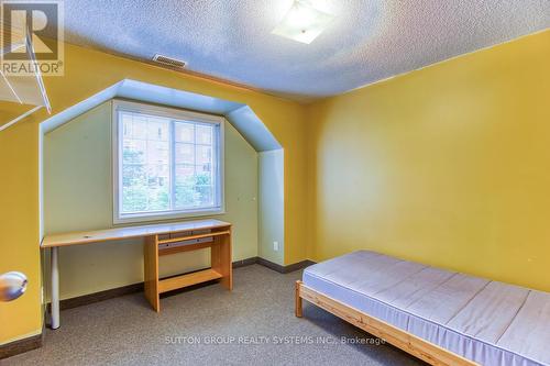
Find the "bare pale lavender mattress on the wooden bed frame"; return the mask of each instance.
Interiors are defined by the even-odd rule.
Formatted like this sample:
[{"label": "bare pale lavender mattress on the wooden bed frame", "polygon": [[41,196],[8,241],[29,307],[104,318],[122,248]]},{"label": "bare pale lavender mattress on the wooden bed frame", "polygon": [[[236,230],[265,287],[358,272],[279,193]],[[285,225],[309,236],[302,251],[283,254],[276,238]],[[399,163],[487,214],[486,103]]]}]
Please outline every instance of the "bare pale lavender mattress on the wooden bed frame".
[{"label": "bare pale lavender mattress on the wooden bed frame", "polygon": [[360,251],[304,284],[481,365],[550,365],[550,293]]}]

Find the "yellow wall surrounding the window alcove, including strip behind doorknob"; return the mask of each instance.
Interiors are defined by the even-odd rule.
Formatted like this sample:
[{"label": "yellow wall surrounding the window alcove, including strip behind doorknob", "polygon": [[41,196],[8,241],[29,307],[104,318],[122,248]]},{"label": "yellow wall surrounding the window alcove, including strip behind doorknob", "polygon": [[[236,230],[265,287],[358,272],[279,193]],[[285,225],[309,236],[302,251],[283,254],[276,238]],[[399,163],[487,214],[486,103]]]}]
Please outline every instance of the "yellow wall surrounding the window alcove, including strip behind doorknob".
[{"label": "yellow wall surrounding the window alcove, including strip behind doorknob", "polygon": [[[198,92],[249,104],[285,148],[285,263],[306,258],[305,231],[305,109],[299,103],[256,91],[232,87],[155,66],[65,45],[65,76],[46,77],[45,86],[58,113],[124,79]],[[9,106],[1,106],[9,115]],[[0,271],[23,270],[31,287],[18,301],[0,304],[0,344],[40,332],[38,258],[38,121],[37,112],[0,133]],[[8,208],[8,209],[7,209]]]}]

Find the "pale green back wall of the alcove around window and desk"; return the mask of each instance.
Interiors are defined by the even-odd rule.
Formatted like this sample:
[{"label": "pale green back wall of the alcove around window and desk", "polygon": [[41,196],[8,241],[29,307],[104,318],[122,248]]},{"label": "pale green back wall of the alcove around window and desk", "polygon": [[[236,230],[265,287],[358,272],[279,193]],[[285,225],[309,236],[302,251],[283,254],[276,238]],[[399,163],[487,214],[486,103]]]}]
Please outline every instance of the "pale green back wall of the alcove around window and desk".
[{"label": "pale green back wall of the alcove around window and desk", "polygon": [[[226,122],[226,214],[234,225],[233,260],[257,256],[258,155]],[[44,136],[44,230],[46,234],[112,226],[111,102]],[[209,265],[208,249],[161,258],[161,276]],[[143,280],[141,242],[64,247],[61,298]]]}]

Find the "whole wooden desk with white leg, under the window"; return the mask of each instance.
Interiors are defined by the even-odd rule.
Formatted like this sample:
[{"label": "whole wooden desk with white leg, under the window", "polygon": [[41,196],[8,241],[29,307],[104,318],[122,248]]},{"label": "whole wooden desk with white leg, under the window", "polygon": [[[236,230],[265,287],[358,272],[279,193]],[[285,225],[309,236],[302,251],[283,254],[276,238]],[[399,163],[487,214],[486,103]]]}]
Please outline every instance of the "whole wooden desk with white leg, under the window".
[{"label": "whole wooden desk with white leg, under the window", "polygon": [[[160,296],[163,292],[212,279],[220,279],[229,290],[233,288],[231,224],[223,221],[197,220],[47,235],[41,247],[50,248],[52,254],[52,329],[59,328],[59,247],[138,237],[145,239],[145,298],[157,312],[161,311]],[[211,268],[165,279],[158,278],[160,256],[207,247],[210,247]]]}]

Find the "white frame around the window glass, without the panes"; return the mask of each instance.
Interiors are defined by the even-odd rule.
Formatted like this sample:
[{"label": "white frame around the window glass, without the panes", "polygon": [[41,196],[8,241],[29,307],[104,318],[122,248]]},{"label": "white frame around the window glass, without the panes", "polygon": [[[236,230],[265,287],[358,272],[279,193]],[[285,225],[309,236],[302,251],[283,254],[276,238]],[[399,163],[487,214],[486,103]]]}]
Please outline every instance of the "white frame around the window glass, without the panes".
[{"label": "white frame around the window glass, without the panes", "polygon": [[[119,121],[119,111],[135,112],[169,118],[174,120],[187,120],[199,123],[216,124],[219,126],[218,146],[215,152],[218,164],[215,167],[215,176],[219,181],[218,187],[215,186],[216,201],[218,206],[208,209],[188,209],[188,210],[169,210],[157,212],[139,212],[139,213],[121,213],[122,206],[120,193],[120,181],[122,179],[122,164],[119,157],[122,156],[122,138],[119,138],[119,130],[121,121]],[[131,102],[125,100],[112,101],[112,202],[113,202],[113,224],[136,223],[146,221],[162,221],[170,219],[185,219],[206,215],[216,215],[226,213],[224,199],[224,124],[226,119],[219,115],[191,112],[168,107],[157,107],[140,102]],[[215,134],[216,135],[216,134]],[[172,146],[170,148],[174,148]]]}]

